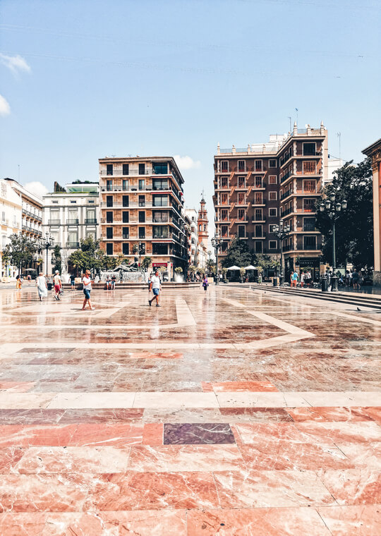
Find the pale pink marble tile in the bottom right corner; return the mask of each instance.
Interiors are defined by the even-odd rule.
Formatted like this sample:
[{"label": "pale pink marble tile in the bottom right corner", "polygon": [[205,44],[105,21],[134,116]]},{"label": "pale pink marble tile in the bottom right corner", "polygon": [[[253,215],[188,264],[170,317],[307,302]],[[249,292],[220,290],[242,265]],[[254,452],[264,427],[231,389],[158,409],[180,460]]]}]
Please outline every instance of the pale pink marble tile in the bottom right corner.
[{"label": "pale pink marble tile in the bottom right corner", "polygon": [[317,511],[332,536],[380,536],[381,504],[319,506]]}]

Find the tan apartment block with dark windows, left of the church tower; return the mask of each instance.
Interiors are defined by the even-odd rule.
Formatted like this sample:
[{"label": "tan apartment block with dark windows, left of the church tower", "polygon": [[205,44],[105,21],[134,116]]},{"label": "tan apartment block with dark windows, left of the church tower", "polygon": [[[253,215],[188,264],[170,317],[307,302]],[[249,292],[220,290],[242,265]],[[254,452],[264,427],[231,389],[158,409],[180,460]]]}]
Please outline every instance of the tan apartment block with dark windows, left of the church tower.
[{"label": "tan apartment block with dark windows, left of the church tower", "polygon": [[172,157],[99,159],[102,248],[133,261],[152,257],[152,267],[188,262],[183,177]]}]

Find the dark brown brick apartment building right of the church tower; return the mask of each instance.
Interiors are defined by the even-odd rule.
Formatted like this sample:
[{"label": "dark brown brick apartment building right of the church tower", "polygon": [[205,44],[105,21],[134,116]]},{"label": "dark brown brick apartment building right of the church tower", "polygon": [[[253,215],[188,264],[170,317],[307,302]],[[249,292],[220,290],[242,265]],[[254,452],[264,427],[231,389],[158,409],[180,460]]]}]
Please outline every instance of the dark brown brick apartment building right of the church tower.
[{"label": "dark brown brick apartment building right of the church tower", "polygon": [[327,180],[327,130],[294,129],[271,135],[270,142],[231,150],[217,147],[214,156],[216,231],[224,240],[219,259],[230,241],[248,241],[250,250],[279,257],[273,232],[282,219],[291,225],[283,241],[286,277],[300,267],[320,269],[322,237],[315,230],[315,201]]}]

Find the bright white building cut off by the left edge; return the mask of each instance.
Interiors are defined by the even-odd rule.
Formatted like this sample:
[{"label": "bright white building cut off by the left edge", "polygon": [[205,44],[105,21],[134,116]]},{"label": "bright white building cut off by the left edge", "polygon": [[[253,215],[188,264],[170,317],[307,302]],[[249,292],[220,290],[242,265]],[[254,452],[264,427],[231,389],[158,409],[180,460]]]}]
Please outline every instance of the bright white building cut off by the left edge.
[{"label": "bright white building cut off by the left edge", "polygon": [[1,281],[9,277],[15,277],[17,267],[6,266],[3,262],[3,250],[9,243],[9,237],[20,233],[22,201],[20,195],[13,190],[8,179],[0,179],[0,223],[1,223],[1,248],[0,248],[0,273]]}]

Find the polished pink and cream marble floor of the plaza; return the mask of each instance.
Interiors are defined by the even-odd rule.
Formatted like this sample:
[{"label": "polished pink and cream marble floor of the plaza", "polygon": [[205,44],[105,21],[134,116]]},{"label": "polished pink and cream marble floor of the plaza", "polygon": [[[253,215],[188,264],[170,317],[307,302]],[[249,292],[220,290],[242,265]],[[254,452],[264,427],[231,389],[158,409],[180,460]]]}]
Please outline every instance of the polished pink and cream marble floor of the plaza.
[{"label": "polished pink and cream marble floor of the plaza", "polygon": [[381,315],[0,291],[0,534],[380,536]]}]

